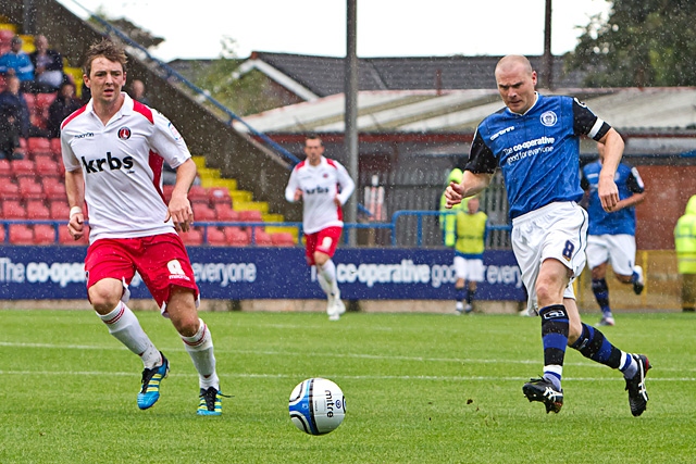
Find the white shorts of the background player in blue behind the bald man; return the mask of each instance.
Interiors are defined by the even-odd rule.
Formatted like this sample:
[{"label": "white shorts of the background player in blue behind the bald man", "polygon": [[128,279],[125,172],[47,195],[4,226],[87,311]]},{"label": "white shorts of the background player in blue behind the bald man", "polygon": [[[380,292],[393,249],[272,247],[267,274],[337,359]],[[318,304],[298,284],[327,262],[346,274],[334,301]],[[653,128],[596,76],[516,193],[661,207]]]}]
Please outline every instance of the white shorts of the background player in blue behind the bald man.
[{"label": "white shorts of the background player in blue behind the bald man", "polygon": [[587,265],[609,262],[614,274],[630,276],[635,265],[635,237],[629,234],[587,236]]}]

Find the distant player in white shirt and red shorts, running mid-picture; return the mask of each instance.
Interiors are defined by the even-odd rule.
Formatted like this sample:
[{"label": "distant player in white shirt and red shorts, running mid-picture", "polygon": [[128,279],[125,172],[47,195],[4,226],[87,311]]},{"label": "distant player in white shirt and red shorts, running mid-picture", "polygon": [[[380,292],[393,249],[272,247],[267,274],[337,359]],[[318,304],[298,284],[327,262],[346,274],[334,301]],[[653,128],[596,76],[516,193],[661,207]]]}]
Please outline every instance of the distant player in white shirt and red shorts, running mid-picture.
[{"label": "distant player in white shirt and red shorts, running mid-picture", "polygon": [[302,228],[307,263],[316,266],[316,280],[328,304],[326,313],[337,321],[346,306],[340,301],[336,266],[332,260],[344,227],[341,206],[356,189],[346,168],[337,161],[324,158],[324,145],[318,136],[304,139],[307,159],[290,174],[285,199],[302,201]]}]

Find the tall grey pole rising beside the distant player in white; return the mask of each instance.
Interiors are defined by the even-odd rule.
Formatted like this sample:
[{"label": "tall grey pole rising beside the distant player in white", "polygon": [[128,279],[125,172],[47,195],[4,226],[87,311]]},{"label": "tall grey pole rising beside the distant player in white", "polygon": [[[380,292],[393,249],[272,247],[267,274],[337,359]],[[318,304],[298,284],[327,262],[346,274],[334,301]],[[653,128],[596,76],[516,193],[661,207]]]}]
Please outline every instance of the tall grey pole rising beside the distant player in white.
[{"label": "tall grey pole rising beside the distant player in white", "polygon": [[[344,95],[346,96],[345,110],[345,147],[346,147],[346,168],[350,177],[356,183],[356,191],[345,205],[346,222],[358,222],[358,0],[347,0],[347,46],[346,46],[346,72]],[[348,243],[351,247],[357,244],[356,230],[348,229]]]}]

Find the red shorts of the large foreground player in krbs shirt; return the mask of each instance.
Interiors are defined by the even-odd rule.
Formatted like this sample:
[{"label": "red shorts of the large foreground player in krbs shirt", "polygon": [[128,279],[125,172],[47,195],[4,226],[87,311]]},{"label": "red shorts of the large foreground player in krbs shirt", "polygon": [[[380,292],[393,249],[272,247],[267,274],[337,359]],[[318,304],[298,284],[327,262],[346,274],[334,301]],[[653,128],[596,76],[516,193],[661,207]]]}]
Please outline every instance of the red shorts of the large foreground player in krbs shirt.
[{"label": "red shorts of the large foreground player in krbs shirt", "polygon": [[110,277],[130,284],[137,271],[158,306],[170,298],[170,288],[190,288],[198,299],[194,269],[176,234],[138,238],[102,238],[89,246],[85,258],[87,288]]}]

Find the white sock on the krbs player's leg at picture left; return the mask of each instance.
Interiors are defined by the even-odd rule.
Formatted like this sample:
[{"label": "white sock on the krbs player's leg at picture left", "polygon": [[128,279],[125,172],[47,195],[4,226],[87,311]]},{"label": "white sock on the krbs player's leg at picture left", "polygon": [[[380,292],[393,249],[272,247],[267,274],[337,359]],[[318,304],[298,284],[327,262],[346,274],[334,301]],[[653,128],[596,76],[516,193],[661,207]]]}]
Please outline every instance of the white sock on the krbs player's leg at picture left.
[{"label": "white sock on the krbs player's leg at picture left", "polygon": [[133,311],[122,301],[109,314],[97,314],[109,328],[109,334],[121,341],[142,360],[142,365],[152,368],[162,363],[160,351],[150,341]]}]

